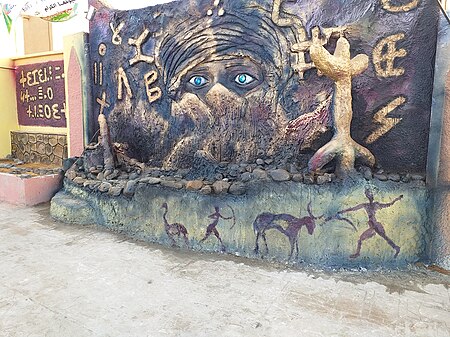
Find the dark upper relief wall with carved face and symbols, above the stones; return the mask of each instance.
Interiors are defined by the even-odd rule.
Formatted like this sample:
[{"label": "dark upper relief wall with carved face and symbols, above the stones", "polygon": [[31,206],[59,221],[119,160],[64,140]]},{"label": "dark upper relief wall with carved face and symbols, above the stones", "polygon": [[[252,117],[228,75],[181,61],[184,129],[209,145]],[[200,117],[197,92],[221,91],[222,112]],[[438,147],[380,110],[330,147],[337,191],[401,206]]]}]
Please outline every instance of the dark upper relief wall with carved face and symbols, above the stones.
[{"label": "dark upper relief wall with carved face and symbols, above the stones", "polygon": [[92,112],[130,157],[199,176],[258,158],[424,174],[436,22],[437,5],[419,0],[100,7]]}]

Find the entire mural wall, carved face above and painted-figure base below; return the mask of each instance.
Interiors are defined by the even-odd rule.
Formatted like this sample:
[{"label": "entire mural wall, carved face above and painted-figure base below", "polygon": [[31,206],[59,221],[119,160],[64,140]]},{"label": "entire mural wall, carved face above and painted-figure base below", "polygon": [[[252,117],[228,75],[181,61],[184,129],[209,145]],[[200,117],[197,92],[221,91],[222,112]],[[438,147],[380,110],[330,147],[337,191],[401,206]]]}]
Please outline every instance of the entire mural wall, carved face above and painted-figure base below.
[{"label": "entire mural wall, carved face above and painted-figure base below", "polygon": [[55,218],[294,264],[426,261],[436,3],[91,4],[98,133]]}]

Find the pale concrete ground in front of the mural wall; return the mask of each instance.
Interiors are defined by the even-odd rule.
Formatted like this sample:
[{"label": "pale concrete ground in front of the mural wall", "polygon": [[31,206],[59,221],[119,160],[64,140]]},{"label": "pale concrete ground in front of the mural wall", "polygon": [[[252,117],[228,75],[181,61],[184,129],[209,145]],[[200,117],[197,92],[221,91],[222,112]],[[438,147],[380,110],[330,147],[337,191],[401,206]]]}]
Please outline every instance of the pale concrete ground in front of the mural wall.
[{"label": "pale concrete ground in front of the mural wall", "polygon": [[450,336],[450,277],[293,270],[0,203],[0,336]]}]

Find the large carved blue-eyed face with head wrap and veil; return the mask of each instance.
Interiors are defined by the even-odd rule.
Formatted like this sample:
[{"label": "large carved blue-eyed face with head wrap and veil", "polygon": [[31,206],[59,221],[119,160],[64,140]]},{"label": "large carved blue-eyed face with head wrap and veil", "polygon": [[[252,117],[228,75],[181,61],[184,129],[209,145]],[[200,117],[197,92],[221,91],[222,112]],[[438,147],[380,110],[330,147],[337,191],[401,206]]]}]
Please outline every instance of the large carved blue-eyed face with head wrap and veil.
[{"label": "large carved blue-eyed face with head wrap and veil", "polygon": [[277,27],[264,26],[269,39],[229,20],[218,18],[208,23],[214,29],[198,32],[189,27],[202,25],[191,23],[186,32],[163,41],[161,68],[172,114],[188,116],[194,125],[166,166],[187,166],[197,151],[219,162],[251,161],[270,155],[280,143],[286,118],[278,96],[289,69],[280,50],[285,41],[278,39]]}]

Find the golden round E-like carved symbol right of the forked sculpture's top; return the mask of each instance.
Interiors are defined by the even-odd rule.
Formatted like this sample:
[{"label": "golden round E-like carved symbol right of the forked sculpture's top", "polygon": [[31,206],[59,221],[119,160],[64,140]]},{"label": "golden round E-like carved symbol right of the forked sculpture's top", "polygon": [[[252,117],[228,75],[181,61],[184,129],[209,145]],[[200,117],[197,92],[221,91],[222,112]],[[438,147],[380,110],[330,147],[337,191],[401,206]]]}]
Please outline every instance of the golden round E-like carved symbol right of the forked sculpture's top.
[{"label": "golden round E-like carved symbol right of the forked sculpture's top", "polygon": [[405,49],[397,49],[396,43],[405,38],[404,33],[390,35],[382,39],[373,50],[373,64],[378,77],[398,77],[404,68],[395,68],[395,59],[408,55]]}]

